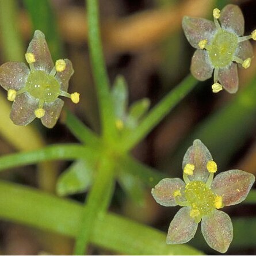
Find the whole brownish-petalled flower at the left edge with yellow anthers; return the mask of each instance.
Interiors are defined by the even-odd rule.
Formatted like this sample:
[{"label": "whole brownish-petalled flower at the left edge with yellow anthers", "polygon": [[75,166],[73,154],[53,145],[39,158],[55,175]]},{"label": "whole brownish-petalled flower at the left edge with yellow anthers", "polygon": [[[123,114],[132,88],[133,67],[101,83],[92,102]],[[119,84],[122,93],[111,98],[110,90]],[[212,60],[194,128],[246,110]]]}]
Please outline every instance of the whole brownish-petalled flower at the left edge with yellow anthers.
[{"label": "whole brownish-petalled flower at the left edge with yellow anthers", "polygon": [[68,59],[57,60],[54,66],[44,34],[36,30],[25,54],[26,62],[7,62],[0,67],[0,85],[13,101],[10,119],[17,125],[28,125],[36,117],[52,128],[60,116],[64,102],[79,102],[79,93],[67,93],[68,81],[74,73]]}]

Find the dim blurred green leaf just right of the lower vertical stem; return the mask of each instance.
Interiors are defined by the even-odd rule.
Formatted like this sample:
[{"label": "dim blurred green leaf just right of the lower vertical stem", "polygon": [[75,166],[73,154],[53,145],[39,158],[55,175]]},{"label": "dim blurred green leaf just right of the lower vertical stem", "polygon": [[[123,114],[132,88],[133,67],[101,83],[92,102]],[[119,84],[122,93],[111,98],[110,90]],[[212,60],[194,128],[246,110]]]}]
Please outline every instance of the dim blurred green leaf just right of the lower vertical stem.
[{"label": "dim blurred green leaf just right of the lower vertical stem", "polygon": [[143,205],[145,202],[145,193],[142,182],[139,178],[122,171],[119,174],[120,186],[124,189],[127,196],[136,204]]}]

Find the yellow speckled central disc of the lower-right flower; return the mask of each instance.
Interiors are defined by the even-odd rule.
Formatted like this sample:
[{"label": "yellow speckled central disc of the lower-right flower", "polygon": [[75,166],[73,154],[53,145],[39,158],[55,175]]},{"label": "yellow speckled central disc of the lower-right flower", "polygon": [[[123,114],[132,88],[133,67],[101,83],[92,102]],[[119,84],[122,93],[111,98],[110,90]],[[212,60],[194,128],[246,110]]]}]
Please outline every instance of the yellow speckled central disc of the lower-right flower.
[{"label": "yellow speckled central disc of the lower-right flower", "polygon": [[186,185],[186,200],[192,209],[199,211],[199,216],[208,215],[214,208],[215,194],[202,181],[191,181]]}]

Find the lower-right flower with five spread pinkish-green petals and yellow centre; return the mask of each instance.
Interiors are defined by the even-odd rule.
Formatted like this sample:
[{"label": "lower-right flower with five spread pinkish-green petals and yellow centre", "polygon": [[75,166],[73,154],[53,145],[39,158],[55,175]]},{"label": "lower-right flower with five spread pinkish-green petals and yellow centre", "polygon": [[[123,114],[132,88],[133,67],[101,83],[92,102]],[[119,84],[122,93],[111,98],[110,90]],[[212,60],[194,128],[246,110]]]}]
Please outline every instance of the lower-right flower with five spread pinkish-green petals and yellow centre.
[{"label": "lower-right flower with five spread pinkish-green petals and yellow centre", "polygon": [[198,223],[206,242],[212,249],[225,253],[233,238],[233,227],[224,206],[239,204],[255,181],[253,174],[241,170],[224,171],[216,175],[217,165],[200,140],[194,140],[182,163],[183,178],[162,179],[152,196],[163,206],[182,208],[171,221],[166,243],[186,243],[194,237]]}]

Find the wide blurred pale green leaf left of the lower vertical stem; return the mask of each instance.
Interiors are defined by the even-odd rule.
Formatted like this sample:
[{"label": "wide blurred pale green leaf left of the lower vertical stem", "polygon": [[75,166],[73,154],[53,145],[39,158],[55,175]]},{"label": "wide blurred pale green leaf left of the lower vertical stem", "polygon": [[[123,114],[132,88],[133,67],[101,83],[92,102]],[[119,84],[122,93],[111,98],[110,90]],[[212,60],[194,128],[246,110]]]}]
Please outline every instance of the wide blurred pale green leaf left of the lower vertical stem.
[{"label": "wide blurred pale green leaf left of the lower vertical stem", "polygon": [[56,188],[57,194],[67,196],[85,192],[92,182],[93,165],[90,161],[78,160],[60,175]]}]

